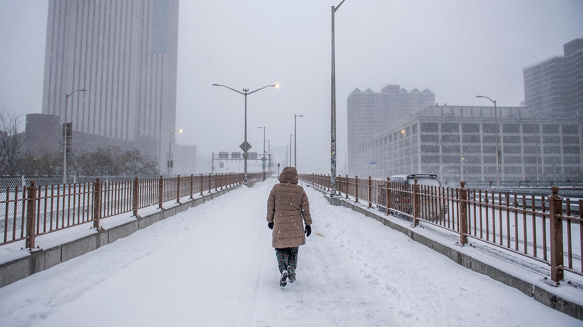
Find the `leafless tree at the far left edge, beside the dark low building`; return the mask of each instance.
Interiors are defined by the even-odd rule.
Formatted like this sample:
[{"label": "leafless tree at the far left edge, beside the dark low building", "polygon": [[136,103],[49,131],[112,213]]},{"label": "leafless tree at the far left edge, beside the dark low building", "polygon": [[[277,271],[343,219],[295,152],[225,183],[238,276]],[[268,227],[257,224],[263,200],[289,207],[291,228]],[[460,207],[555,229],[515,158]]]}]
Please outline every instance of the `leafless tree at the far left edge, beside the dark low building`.
[{"label": "leafless tree at the far left edge, beside the dark low building", "polygon": [[24,141],[23,134],[18,132],[21,117],[3,109],[0,111],[0,175],[16,173]]}]

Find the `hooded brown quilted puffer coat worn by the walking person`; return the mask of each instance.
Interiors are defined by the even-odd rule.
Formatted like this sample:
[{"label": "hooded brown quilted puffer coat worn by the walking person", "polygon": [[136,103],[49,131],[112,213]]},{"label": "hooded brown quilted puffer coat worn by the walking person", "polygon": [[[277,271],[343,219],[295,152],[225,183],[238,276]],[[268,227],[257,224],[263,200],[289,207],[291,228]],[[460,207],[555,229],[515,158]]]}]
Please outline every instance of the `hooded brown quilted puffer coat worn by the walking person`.
[{"label": "hooded brown quilted puffer coat worn by the walking person", "polygon": [[273,223],[273,247],[297,247],[305,244],[304,222],[312,224],[310,202],[304,188],[297,184],[296,168],[283,168],[279,182],[267,200],[267,222]]}]

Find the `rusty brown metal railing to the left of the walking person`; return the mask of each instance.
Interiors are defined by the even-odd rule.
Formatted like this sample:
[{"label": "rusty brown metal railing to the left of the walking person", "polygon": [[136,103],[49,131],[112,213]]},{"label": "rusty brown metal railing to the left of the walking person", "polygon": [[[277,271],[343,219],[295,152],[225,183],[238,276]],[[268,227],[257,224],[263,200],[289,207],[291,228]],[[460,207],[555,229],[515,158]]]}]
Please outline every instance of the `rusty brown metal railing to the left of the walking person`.
[{"label": "rusty brown metal railing to the left of the walking person", "polygon": [[[248,173],[248,180],[262,173]],[[93,222],[100,228],[100,219],[157,205],[163,209],[167,201],[180,202],[195,194],[212,193],[243,183],[243,173],[221,175],[190,175],[159,179],[121,180],[92,183],[72,183],[6,187],[0,193],[0,230],[3,244],[26,240],[26,248],[34,248],[35,237]]]}]

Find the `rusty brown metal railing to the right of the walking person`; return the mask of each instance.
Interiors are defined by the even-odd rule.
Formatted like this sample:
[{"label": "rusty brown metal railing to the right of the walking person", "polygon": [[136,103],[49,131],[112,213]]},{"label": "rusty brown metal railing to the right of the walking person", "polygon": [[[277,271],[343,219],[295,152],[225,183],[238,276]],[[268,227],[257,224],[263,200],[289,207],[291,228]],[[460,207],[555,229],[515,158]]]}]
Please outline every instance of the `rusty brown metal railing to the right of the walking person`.
[{"label": "rusty brown metal railing to the right of the walking person", "polygon": [[[330,189],[330,177],[303,174],[300,180]],[[510,191],[440,187],[389,182],[382,179],[341,177],[336,179],[338,196],[368,208],[376,205],[386,215],[420,221],[459,234],[459,244],[468,238],[550,265],[554,282],[569,271],[583,276],[583,194],[561,198],[559,187],[549,196],[526,196]],[[352,200],[351,199],[351,200]]]}]

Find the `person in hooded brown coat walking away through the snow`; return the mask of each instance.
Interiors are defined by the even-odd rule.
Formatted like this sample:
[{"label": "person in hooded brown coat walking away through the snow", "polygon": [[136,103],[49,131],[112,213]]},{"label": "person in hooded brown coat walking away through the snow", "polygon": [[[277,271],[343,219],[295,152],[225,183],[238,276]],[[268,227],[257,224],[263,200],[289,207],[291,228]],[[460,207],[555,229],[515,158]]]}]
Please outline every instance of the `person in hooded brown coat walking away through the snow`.
[{"label": "person in hooded brown coat walking away through the snow", "polygon": [[267,226],[273,229],[272,245],[278,258],[279,286],[282,287],[287,285],[287,279],[290,283],[296,281],[297,251],[305,244],[305,237],[312,233],[310,202],[297,180],[296,168],[283,168],[279,184],[273,186],[267,200]]}]

